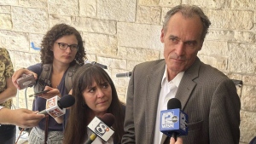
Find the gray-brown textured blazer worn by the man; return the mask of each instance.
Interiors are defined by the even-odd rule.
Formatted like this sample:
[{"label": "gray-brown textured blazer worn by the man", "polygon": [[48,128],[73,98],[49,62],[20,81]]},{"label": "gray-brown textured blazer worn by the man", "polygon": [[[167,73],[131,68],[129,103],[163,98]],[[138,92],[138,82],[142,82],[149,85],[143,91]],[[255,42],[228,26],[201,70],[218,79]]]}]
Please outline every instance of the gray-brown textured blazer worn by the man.
[{"label": "gray-brown textured blazer worn by the man", "polygon": [[[122,143],[154,143],[154,126],[165,60],[134,67],[129,82]],[[189,115],[184,144],[238,144],[241,103],[236,86],[223,72],[198,58],[183,74],[175,96]],[[166,143],[166,135],[161,144]],[[168,140],[167,140],[168,141]]]}]

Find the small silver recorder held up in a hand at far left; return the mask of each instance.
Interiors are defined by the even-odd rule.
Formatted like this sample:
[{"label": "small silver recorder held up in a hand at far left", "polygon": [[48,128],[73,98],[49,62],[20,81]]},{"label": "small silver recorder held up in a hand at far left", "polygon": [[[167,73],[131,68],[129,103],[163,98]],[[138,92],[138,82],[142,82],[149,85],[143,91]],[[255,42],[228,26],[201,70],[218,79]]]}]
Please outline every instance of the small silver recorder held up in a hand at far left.
[{"label": "small silver recorder held up in a hand at far left", "polygon": [[32,87],[36,84],[36,80],[32,73],[30,74],[22,74],[21,78],[17,79],[17,84],[20,89],[25,89],[27,87]]}]

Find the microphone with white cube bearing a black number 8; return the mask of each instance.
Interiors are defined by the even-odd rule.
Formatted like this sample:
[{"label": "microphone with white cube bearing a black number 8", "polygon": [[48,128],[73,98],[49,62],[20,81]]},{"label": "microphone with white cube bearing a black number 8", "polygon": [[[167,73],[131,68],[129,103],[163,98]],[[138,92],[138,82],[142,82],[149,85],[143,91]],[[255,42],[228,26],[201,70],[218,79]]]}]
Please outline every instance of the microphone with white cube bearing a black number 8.
[{"label": "microphone with white cube bearing a black number 8", "polygon": [[91,144],[96,139],[96,136],[107,142],[114,133],[113,129],[110,128],[113,122],[114,116],[111,113],[105,113],[102,118],[93,118],[87,126],[93,134],[91,134],[89,139],[85,141],[85,144]]}]

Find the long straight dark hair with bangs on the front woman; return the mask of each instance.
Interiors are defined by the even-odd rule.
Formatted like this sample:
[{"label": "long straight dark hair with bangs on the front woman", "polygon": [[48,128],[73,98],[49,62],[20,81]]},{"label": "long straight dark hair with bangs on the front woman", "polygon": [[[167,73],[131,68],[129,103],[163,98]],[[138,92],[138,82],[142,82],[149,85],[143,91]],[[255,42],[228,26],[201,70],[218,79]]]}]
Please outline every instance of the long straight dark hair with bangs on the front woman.
[{"label": "long straight dark hair with bangs on the front woman", "polygon": [[73,78],[73,93],[75,104],[70,108],[67,127],[64,132],[63,144],[84,143],[84,136],[87,135],[87,125],[90,124],[90,112],[92,110],[84,103],[84,89],[90,88],[93,82],[102,84],[108,82],[112,89],[112,102],[108,107],[108,113],[114,116],[113,141],[121,142],[124,135],[125,104],[119,101],[119,97],[112,79],[100,66],[85,64],[80,66]]}]

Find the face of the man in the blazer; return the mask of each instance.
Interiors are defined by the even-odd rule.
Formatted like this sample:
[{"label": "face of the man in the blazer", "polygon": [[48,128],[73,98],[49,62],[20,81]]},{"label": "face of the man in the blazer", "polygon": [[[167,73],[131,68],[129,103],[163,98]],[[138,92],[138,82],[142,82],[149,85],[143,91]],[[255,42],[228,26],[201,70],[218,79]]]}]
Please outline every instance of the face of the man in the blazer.
[{"label": "face of the man in the blazer", "polygon": [[[202,23],[199,16],[185,18],[178,12],[172,15],[161,32],[168,75],[183,72],[193,64],[202,46]],[[170,76],[169,76],[170,77]]]}]

